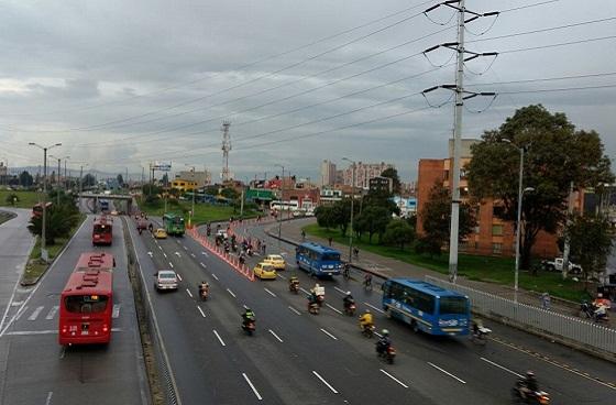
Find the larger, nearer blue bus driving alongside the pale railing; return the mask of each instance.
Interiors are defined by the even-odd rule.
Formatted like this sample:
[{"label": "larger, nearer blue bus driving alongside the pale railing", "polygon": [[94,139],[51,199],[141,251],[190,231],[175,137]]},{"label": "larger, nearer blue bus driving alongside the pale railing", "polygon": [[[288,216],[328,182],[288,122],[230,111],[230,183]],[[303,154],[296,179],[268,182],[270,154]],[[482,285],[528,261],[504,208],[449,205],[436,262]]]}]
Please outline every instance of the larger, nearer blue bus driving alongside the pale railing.
[{"label": "larger, nearer blue bus driving alongside the pale railing", "polygon": [[464,336],[471,326],[469,297],[411,278],[389,278],[383,283],[383,309],[409,324],[415,331]]}]

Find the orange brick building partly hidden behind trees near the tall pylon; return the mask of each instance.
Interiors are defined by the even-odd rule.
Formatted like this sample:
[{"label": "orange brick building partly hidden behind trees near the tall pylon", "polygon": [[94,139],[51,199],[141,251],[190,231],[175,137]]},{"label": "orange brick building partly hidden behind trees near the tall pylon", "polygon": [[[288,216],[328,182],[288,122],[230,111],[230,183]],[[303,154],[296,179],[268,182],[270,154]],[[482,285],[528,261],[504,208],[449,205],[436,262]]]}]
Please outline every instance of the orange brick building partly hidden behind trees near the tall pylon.
[{"label": "orange brick building partly hidden behind trees near the tall pylon", "polygon": [[[471,161],[471,145],[479,140],[462,140],[461,167]],[[421,210],[428,201],[430,189],[435,183],[440,183],[451,188],[451,175],[453,171],[453,140],[449,141],[448,158],[422,158],[419,161],[417,179],[417,232],[424,232],[421,226]],[[580,198],[575,193],[575,206],[579,207]],[[462,200],[469,197],[469,186],[463,169],[460,171],[460,196]],[[497,217],[502,209],[497,201],[488,199],[477,206],[477,226],[465,241],[459,245],[460,252],[472,254],[494,254],[512,256],[516,251],[514,222],[503,221]],[[537,236],[532,254],[543,258],[554,258],[559,254],[557,237],[540,231]]]}]

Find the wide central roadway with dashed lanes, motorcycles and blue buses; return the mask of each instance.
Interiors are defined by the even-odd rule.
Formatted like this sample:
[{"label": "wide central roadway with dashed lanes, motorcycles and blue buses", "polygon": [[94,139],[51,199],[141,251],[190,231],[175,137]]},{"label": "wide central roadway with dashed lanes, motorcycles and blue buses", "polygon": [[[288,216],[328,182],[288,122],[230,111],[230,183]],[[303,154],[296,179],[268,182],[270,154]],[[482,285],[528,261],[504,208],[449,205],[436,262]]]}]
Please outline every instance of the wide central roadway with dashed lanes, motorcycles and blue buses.
[{"label": "wide central roadway with dashed lanes, motorcycles and blue buses", "polygon": [[[324,281],[328,305],[309,315],[305,295],[290,294],[286,278],[297,274],[304,288],[315,281],[293,265],[279,280],[251,282],[189,237],[154,240],[133,228],[184,404],[507,404],[517,376],[529,369],[554,404],[610,404],[616,394],[612,363],[520,331],[491,325],[496,340],[485,347],[415,335],[382,314],[378,292],[364,292],[354,280]],[[262,229],[250,232],[266,238]],[[268,241],[270,252],[276,244]],[[292,258],[292,247],[282,250]],[[177,292],[154,291],[153,274],[161,269],[178,272]],[[212,286],[205,303],[197,297],[201,280]],[[345,291],[392,331],[395,364],[380,361],[374,340],[340,313]],[[256,313],[253,337],[240,328],[244,306]]]}]

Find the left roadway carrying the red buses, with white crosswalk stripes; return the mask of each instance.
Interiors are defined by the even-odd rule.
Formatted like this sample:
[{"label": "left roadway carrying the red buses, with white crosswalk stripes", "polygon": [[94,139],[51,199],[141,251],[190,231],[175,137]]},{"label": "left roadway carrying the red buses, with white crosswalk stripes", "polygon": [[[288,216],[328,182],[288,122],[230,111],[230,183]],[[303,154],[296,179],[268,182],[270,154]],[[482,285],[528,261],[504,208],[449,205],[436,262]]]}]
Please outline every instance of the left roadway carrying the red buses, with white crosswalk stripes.
[{"label": "left roadway carrying the red buses, with white crosswalk stripes", "polygon": [[[94,248],[92,218],[38,284],[10,305],[0,330],[1,404],[148,404],[122,225],[114,221],[112,247]],[[57,342],[59,293],[79,254],[91,251],[117,260],[111,343],[64,349]]]}]

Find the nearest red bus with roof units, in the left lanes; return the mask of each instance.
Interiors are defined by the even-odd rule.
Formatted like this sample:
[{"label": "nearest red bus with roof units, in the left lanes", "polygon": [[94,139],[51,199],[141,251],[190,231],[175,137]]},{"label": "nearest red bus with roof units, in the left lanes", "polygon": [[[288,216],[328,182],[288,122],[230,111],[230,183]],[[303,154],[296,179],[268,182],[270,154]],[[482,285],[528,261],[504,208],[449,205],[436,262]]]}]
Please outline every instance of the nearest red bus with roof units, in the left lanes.
[{"label": "nearest red bus with roof units, in the left lanes", "polygon": [[59,344],[109,343],[113,267],[109,253],[82,253],[59,300]]}]

